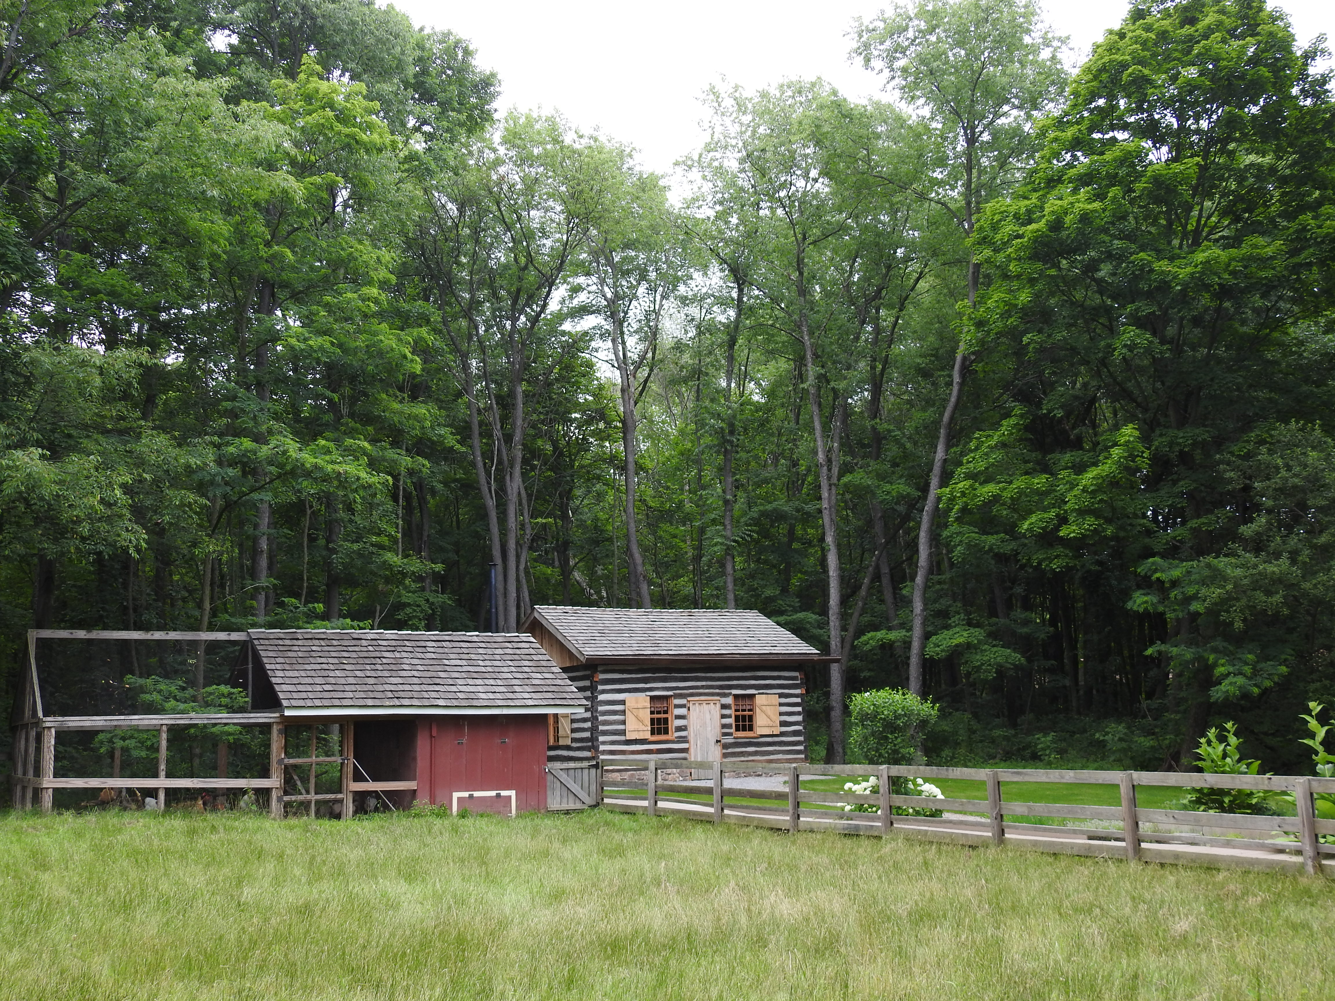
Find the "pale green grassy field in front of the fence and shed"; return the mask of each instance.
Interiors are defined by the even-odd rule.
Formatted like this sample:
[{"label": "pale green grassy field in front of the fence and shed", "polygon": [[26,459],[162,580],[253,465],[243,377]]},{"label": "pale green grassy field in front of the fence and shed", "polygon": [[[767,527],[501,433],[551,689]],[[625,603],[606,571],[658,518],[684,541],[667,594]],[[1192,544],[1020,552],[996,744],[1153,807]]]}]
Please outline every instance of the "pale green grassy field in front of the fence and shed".
[{"label": "pale green grassy field in front of the fence and shed", "polygon": [[1330,998],[1335,885],[575,815],[0,817],[0,998]]}]

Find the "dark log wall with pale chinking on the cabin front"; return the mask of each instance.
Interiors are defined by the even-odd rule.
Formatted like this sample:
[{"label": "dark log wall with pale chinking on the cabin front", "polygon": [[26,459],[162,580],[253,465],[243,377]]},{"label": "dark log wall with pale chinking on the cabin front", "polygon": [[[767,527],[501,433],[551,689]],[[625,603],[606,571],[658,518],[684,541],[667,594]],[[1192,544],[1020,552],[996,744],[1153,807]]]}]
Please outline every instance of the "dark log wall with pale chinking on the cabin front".
[{"label": "dark log wall with pale chinking on the cabin front", "polygon": [[[589,695],[589,669],[567,669],[566,675]],[[621,755],[665,755],[685,758],[686,699],[717,698],[724,734],[725,759],[804,761],[806,735],[802,721],[801,673],[789,669],[629,669],[599,667],[593,686],[598,717],[598,753],[605,758]],[[780,733],[769,737],[734,738],[732,725],[733,693],[774,693],[778,695]],[[674,739],[626,739],[627,695],[672,695]],[[587,761],[594,750],[590,742],[590,714],[573,713],[570,717],[570,746],[549,747],[550,761]]]}]

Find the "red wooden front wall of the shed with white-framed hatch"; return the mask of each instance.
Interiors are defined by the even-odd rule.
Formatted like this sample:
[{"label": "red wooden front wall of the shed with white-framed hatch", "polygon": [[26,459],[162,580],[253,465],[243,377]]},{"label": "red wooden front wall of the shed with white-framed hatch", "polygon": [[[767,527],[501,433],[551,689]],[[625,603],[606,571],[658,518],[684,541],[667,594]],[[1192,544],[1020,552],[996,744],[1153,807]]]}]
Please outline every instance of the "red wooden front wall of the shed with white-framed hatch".
[{"label": "red wooden front wall of the shed with white-framed hatch", "polygon": [[[455,793],[514,790],[514,809],[547,809],[545,715],[418,719],[418,798],[451,806]],[[509,797],[465,797],[461,807],[510,813]]]}]

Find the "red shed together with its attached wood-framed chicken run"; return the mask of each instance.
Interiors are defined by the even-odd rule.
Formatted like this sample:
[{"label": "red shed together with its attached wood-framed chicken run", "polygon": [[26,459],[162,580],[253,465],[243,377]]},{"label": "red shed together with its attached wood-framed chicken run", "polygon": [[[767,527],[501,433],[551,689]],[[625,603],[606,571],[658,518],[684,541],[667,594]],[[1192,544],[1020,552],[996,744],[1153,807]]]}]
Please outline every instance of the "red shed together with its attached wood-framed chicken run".
[{"label": "red shed together with its attached wood-framed chicken run", "polygon": [[[244,654],[232,678],[244,685],[252,711],[47,715],[37,671],[39,639],[184,641],[198,645],[200,655],[211,641],[242,642]],[[358,805],[398,809],[417,798],[451,806],[462,799],[470,809],[505,806],[509,813],[517,806],[547,809],[553,781],[561,783],[555,790],[561,799],[570,785],[565,773],[551,775],[546,767],[549,714],[583,707],[574,687],[525,634],[29,630],[24,689],[15,725],[12,803],[43,811],[51,811],[57,789],[111,790],[116,795],[129,787],[156,790],[159,809],[166,806],[168,790],[267,791],[268,813],[275,818],[290,815],[292,805],[310,817],[348,818],[359,811]],[[226,753],[220,753],[214,778],[168,778],[171,729],[208,725],[267,726],[268,774],[230,777]],[[370,727],[371,757],[363,755],[362,762],[354,758],[359,725]],[[310,745],[288,757],[288,730],[296,727],[310,731]],[[327,753],[327,746],[320,754],[320,729],[336,729],[336,754]],[[158,730],[156,777],[123,777],[119,753],[112,775],[56,777],[56,735],[77,730]],[[328,789],[328,766],[335,765],[338,791],[319,791],[318,770]],[[372,777],[367,767],[383,774]],[[505,781],[498,785],[498,779]],[[479,798],[483,793],[495,798],[502,786],[503,803]]]}]

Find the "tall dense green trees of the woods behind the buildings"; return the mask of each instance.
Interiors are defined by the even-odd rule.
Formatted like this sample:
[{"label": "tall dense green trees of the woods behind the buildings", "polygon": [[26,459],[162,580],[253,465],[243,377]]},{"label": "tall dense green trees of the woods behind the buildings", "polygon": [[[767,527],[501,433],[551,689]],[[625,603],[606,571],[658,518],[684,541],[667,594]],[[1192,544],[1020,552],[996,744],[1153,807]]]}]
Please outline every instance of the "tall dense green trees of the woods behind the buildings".
[{"label": "tall dense green trees of the woods behind the buildings", "polygon": [[960,761],[1296,766],[1335,701],[1335,104],[1263,0],[1073,71],[1031,0],[900,3],[884,99],[714,88],[672,187],[363,0],[0,24],[11,703],[29,627],[486,629],[491,565],[505,631],[769,614],[834,762],[886,685]]}]

